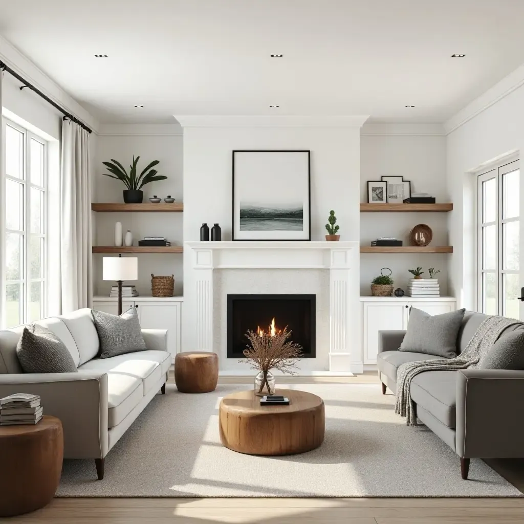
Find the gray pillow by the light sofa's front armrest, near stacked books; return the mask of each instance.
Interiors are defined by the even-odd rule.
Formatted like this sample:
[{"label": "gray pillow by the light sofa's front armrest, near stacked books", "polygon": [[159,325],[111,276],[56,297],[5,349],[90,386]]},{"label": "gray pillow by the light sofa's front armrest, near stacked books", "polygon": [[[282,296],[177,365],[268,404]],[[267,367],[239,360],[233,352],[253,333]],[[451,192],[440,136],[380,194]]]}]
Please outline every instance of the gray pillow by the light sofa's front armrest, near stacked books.
[{"label": "gray pillow by the light sofa's front armrest, near stacked books", "polygon": [[24,328],[16,346],[16,356],[24,373],[78,372],[65,344],[39,324]]}]

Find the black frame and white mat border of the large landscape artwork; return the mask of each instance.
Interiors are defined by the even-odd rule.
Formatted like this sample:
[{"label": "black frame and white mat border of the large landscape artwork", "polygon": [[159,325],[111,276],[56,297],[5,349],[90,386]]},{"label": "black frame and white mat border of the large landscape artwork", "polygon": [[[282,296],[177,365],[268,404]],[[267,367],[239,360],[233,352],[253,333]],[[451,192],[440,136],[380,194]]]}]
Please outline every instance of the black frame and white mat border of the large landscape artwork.
[{"label": "black frame and white mat border of the large landscape artwork", "polygon": [[[268,237],[261,237],[261,235],[253,235],[253,237],[250,237],[249,233],[242,233],[240,229],[240,213],[239,209],[237,210],[236,206],[236,200],[235,198],[238,198],[238,194],[235,191],[236,184],[235,184],[235,177],[239,177],[238,169],[236,169],[236,158],[235,155],[238,154],[245,154],[245,153],[253,153],[253,154],[260,154],[260,153],[289,153],[289,154],[306,154],[307,155],[307,174],[304,172],[304,183],[307,185],[307,187],[303,187],[302,190],[305,192],[307,191],[307,196],[304,199],[303,204],[307,204],[307,211],[303,210],[303,221],[304,219],[307,220],[307,228],[303,228],[302,230],[297,230],[297,233],[301,233],[302,237],[300,235],[293,235],[292,233],[289,233],[285,235],[286,237],[279,238],[278,231],[275,230],[273,234],[267,235]],[[272,242],[272,241],[292,241],[292,242],[310,242],[311,241],[311,151],[309,149],[235,149],[232,151],[232,240],[233,241],[239,241],[239,242],[249,242],[249,241],[259,241],[259,242]],[[243,236],[243,237],[241,237]],[[271,237],[272,236],[272,237]]]}]

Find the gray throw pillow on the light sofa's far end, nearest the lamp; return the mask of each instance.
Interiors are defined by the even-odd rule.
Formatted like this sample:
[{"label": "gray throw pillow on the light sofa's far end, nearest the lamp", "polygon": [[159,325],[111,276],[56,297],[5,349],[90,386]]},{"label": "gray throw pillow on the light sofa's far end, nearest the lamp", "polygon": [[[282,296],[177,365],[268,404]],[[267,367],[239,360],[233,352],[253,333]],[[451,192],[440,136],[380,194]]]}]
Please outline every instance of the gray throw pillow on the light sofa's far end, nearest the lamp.
[{"label": "gray throw pillow on the light sofa's far end, nearest the lamp", "polygon": [[100,358],[147,350],[135,308],[120,316],[92,309],[91,315],[99,334]]}]

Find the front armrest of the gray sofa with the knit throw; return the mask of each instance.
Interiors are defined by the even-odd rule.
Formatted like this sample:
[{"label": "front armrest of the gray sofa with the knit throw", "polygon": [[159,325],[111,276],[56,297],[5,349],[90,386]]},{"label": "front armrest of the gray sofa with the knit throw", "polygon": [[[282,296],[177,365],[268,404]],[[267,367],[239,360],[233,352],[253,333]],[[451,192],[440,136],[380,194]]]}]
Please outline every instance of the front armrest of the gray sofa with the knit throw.
[{"label": "front armrest of the gray sofa with the knit throw", "polygon": [[462,369],[456,375],[456,453],[524,457],[524,371]]}]

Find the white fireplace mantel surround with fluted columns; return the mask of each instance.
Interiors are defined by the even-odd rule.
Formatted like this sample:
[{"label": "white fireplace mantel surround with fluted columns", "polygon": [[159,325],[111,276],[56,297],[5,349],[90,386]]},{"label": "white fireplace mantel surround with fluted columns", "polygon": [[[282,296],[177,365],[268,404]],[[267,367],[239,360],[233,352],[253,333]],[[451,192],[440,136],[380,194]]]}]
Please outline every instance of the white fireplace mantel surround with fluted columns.
[{"label": "white fireplace mantel surround with fluted columns", "polygon": [[[186,242],[185,246],[192,252],[195,270],[196,349],[209,350],[213,344],[215,270],[324,269],[330,274],[329,372],[362,373],[358,242]],[[260,278],[268,278],[267,275],[265,272]],[[297,293],[300,291],[297,289]]]}]

